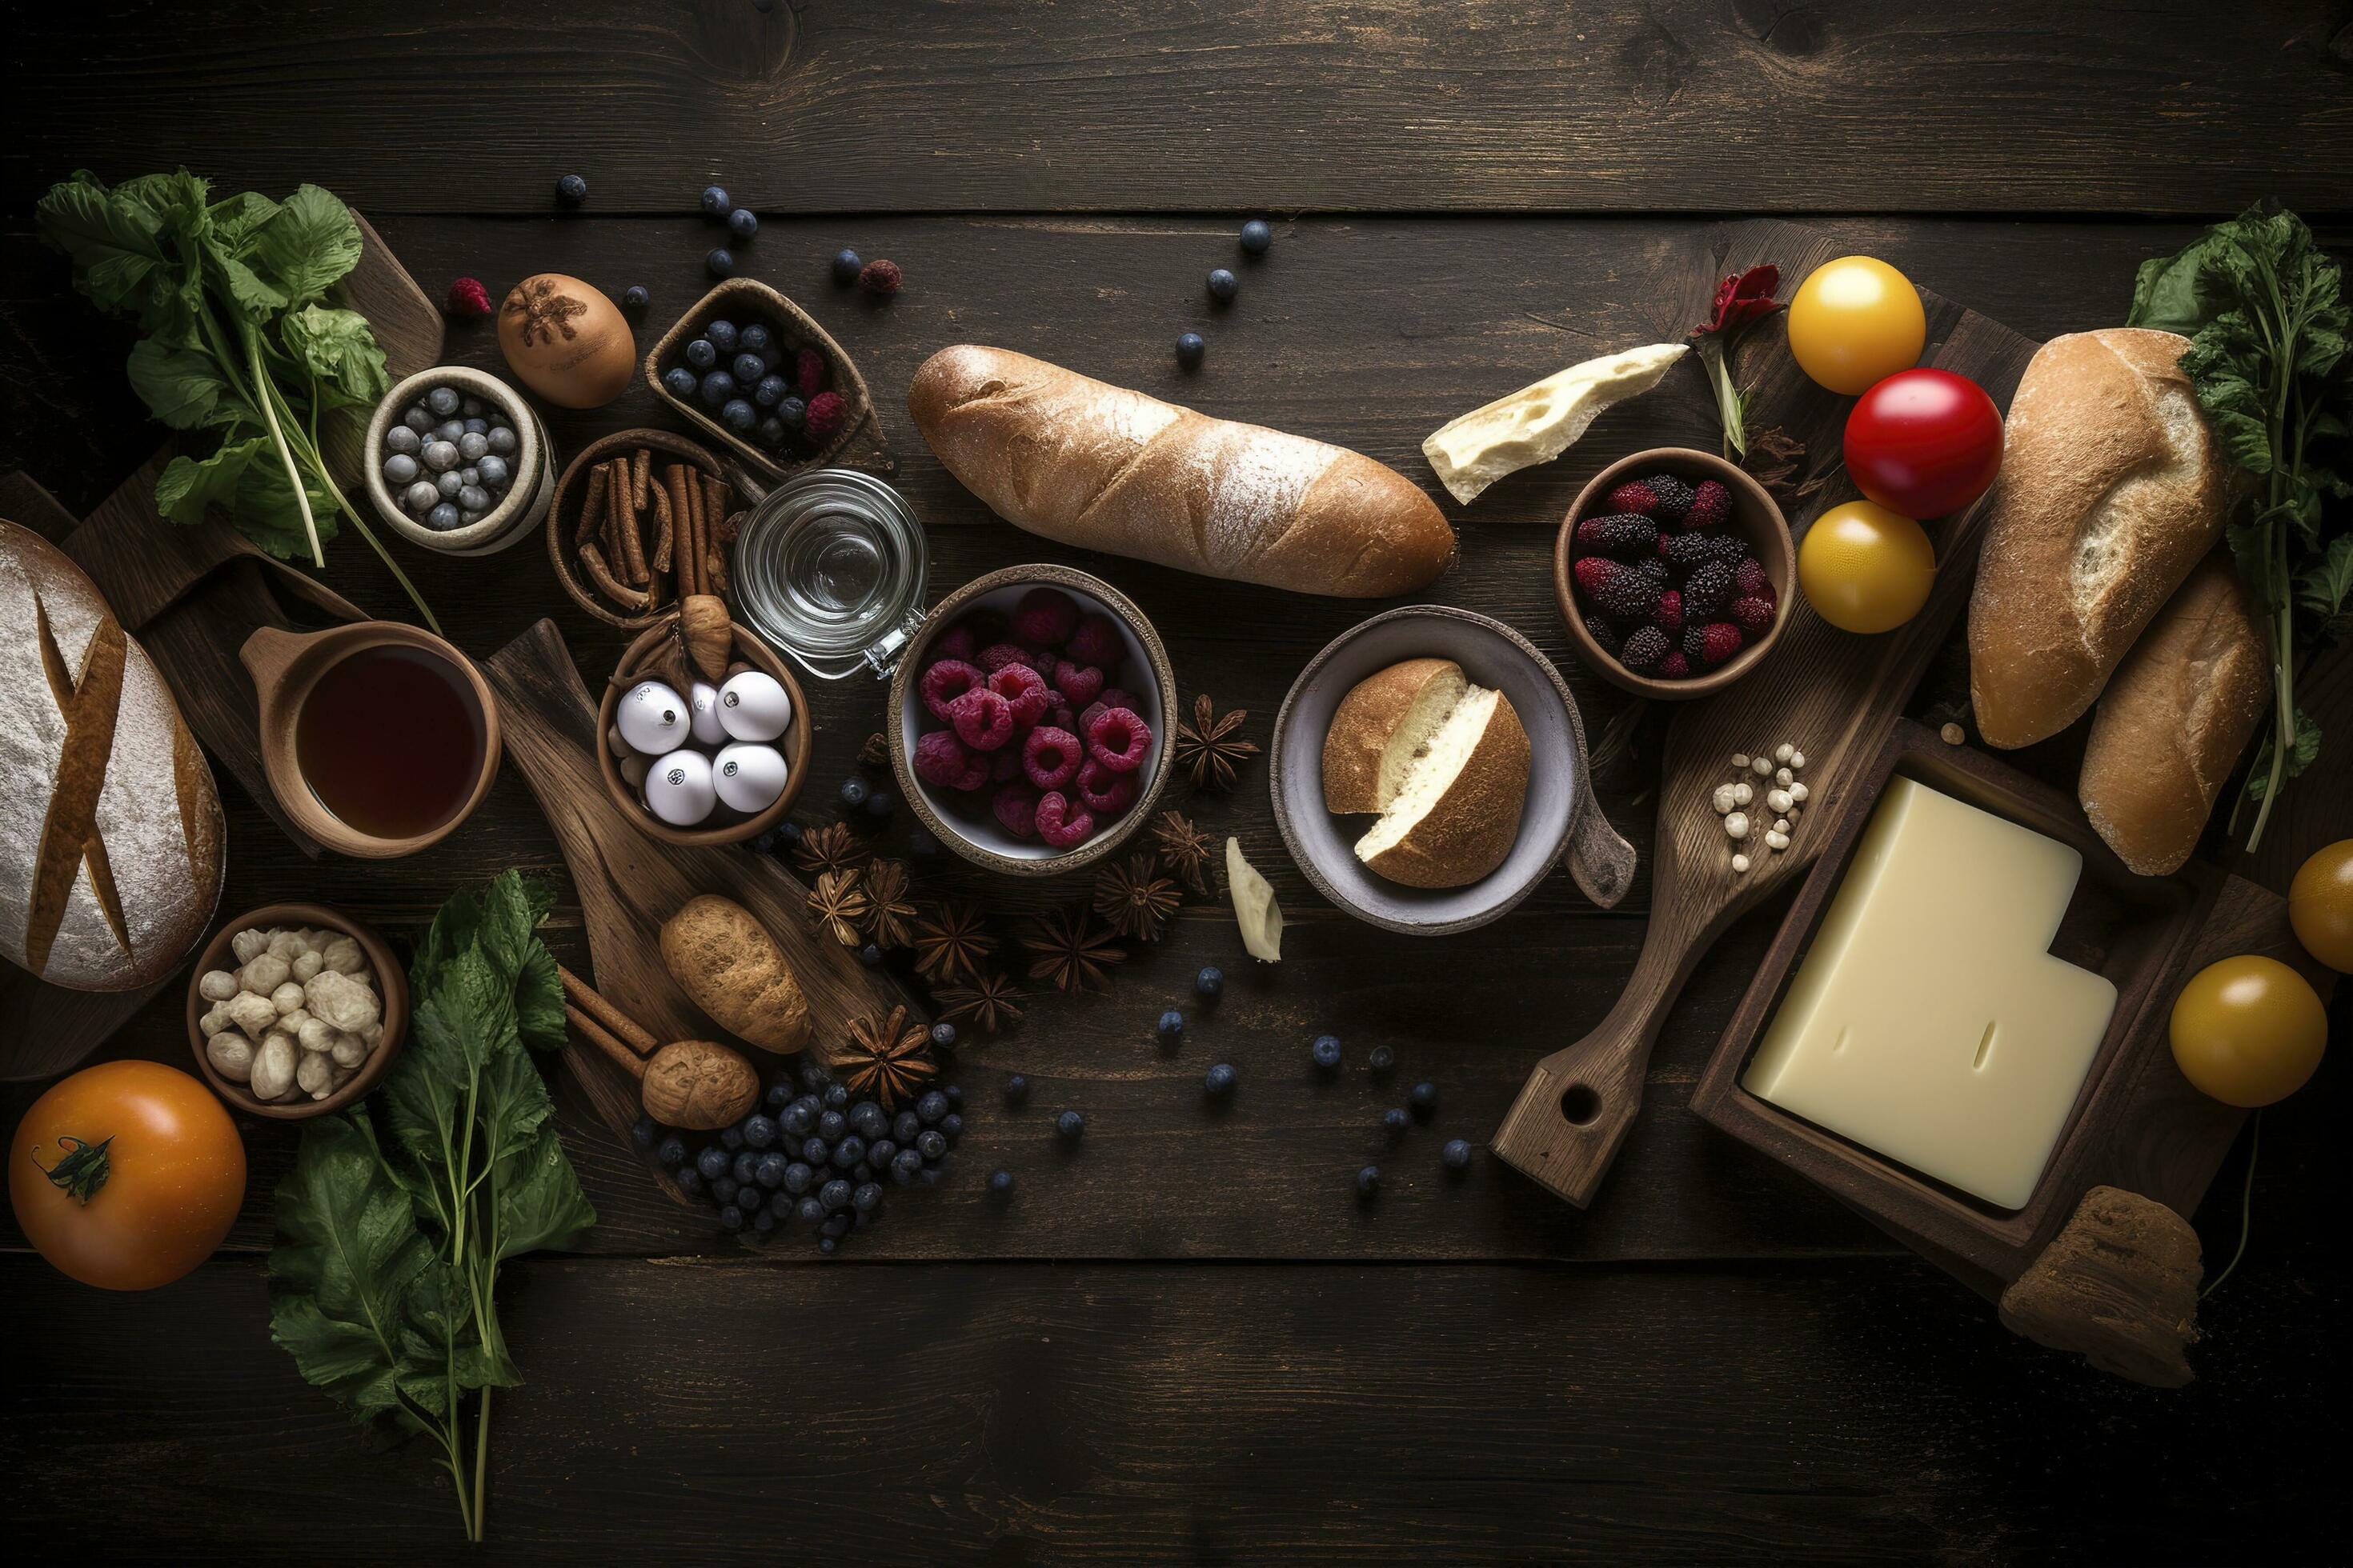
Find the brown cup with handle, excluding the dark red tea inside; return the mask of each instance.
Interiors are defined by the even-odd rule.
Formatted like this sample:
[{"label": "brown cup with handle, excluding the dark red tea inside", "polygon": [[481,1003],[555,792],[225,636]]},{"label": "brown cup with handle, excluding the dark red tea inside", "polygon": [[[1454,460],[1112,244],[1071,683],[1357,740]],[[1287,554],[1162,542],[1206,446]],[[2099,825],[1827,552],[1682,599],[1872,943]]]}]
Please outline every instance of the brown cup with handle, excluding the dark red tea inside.
[{"label": "brown cup with handle, excluding the dark red tea inside", "polygon": [[[379,839],[327,811],[304,778],[301,759],[294,752],[294,724],[301,719],[301,705],[318,679],[351,654],[379,646],[421,649],[452,665],[466,677],[473,705],[482,715],[482,766],[475,773],[473,792],[449,813],[449,820],[405,839]],[[473,816],[482,797],[489,795],[492,780],[499,778],[499,701],[489,693],[489,682],[473,668],[473,661],[433,632],[400,621],[355,621],[325,632],[282,632],[275,625],[261,625],[238,649],[238,658],[254,677],[254,696],[261,705],[261,771],[271,780],[271,795],[304,832],[336,853],[360,860],[398,860],[431,849]]]}]

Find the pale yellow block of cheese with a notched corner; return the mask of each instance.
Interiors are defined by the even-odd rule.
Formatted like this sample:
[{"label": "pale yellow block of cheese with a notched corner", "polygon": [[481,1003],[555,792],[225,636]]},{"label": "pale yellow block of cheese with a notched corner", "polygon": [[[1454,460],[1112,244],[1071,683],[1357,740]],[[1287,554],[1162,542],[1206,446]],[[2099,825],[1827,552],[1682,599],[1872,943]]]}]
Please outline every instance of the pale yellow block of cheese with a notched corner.
[{"label": "pale yellow block of cheese with a notched corner", "polygon": [[1892,778],[1741,1086],[2024,1208],[2115,985],[2049,954],[2082,856]]}]

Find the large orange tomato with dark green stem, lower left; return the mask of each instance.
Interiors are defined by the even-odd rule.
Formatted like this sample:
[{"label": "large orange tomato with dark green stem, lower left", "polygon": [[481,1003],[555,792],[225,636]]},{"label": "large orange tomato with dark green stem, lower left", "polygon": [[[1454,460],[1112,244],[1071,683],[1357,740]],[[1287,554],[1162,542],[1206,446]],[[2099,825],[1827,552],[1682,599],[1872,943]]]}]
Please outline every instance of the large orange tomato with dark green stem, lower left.
[{"label": "large orange tomato with dark green stem, lower left", "polygon": [[245,1143],[186,1072],[101,1063],[33,1100],[9,1147],[7,1197],[59,1272],[153,1291],[228,1234],[245,1201]]}]

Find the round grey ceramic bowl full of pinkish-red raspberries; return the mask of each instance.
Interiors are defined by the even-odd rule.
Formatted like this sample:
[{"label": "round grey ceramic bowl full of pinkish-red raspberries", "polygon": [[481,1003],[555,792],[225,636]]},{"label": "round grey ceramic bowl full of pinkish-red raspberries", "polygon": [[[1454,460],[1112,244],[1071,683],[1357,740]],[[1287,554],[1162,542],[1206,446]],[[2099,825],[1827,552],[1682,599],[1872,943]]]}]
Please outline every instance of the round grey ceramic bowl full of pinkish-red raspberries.
[{"label": "round grey ceramic bowl full of pinkish-red raspberries", "polygon": [[1176,675],[1127,595],[1007,567],[925,618],[892,675],[899,792],[974,865],[1049,877],[1141,827],[1174,764]]}]

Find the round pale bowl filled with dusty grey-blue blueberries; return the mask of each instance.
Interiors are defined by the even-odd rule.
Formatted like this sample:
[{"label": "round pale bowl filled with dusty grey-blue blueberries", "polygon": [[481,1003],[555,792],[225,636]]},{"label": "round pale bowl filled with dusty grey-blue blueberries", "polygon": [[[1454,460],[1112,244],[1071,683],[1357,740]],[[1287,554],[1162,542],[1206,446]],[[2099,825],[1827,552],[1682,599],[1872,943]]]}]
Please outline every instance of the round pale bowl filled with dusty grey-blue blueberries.
[{"label": "round pale bowl filled with dusty grey-blue blueberries", "polygon": [[367,421],[367,494],[405,538],[494,555],[548,515],[548,433],[496,376],[438,364],[407,376]]}]

